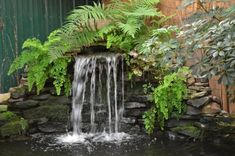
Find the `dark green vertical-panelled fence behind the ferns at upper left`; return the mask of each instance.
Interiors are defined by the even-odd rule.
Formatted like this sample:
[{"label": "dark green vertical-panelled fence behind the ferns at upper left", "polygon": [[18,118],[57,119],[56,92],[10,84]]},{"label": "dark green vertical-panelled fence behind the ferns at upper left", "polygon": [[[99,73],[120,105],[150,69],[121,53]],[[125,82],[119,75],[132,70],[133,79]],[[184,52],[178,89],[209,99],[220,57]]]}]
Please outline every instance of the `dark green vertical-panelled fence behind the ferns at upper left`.
[{"label": "dark green vertical-panelled fence behind the ferns at upper left", "polygon": [[0,93],[19,82],[19,74],[7,75],[27,38],[45,40],[60,27],[66,15],[92,0],[0,0]]}]

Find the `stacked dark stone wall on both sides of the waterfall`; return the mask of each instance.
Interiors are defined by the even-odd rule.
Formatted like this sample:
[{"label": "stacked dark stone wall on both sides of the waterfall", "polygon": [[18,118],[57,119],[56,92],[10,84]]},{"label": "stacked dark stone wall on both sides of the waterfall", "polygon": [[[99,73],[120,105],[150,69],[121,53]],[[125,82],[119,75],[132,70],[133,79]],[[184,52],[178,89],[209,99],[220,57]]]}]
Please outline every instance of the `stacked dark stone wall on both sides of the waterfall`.
[{"label": "stacked dark stone wall on both sides of the waterfall", "polygon": [[[127,133],[145,133],[143,113],[148,110],[151,96],[143,91],[146,78],[125,80],[125,112],[120,123],[121,131]],[[187,109],[180,117],[172,117],[165,127],[166,134],[171,139],[212,139],[225,138],[235,140],[235,120],[221,110],[221,101],[211,95],[208,79],[195,78],[192,75],[187,79],[188,98],[185,101]],[[51,87],[45,88],[40,95],[28,92],[27,86],[22,85],[10,89],[10,99],[0,103],[0,136],[34,134],[34,133],[65,133],[71,130],[70,112],[72,98],[64,95],[56,96]],[[102,107],[101,105],[97,105]],[[85,108],[83,113],[89,111]],[[7,120],[1,115],[13,112],[17,120]],[[99,116],[99,115],[98,115]],[[97,116],[97,118],[98,118]],[[89,124],[90,116],[83,118],[84,130]],[[100,114],[100,122],[102,114]],[[9,122],[13,121],[13,124]],[[22,129],[22,123],[25,123]],[[9,125],[14,125],[9,128]],[[156,124],[157,125],[157,124]],[[20,127],[13,132],[11,128]],[[9,133],[6,133],[9,132]],[[160,132],[156,126],[156,133]],[[229,136],[229,137],[228,137]],[[230,138],[230,139],[228,139]]]}]

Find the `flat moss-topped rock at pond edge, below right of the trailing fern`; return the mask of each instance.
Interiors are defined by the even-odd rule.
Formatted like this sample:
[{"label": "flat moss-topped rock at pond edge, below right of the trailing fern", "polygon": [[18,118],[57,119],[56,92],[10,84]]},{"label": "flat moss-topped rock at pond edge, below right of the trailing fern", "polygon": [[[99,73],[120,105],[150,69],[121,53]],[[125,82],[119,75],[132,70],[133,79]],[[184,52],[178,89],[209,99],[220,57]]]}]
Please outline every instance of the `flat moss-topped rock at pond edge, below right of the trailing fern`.
[{"label": "flat moss-topped rock at pond edge, below right of the trailing fern", "polygon": [[171,131],[182,134],[191,138],[198,139],[200,137],[200,129],[192,125],[178,126],[171,129]]}]

